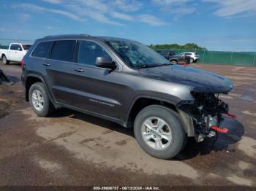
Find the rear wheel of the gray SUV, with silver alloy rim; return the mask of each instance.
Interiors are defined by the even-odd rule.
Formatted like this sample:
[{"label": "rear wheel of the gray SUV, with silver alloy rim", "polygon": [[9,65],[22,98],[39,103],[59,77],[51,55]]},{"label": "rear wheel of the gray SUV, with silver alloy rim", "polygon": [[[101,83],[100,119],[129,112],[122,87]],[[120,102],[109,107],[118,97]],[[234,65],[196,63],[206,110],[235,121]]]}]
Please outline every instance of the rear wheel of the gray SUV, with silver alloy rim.
[{"label": "rear wheel of the gray SUV, with silver alloy rim", "polygon": [[34,83],[29,88],[29,103],[40,117],[48,117],[55,110],[42,82]]}]

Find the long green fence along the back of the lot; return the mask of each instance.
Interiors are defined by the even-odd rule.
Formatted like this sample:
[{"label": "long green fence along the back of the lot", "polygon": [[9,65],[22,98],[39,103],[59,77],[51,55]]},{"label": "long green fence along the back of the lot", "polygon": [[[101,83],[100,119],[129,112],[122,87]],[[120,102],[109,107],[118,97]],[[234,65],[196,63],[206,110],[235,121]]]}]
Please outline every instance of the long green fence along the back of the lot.
[{"label": "long green fence along the back of the lot", "polygon": [[[4,39],[0,38],[0,48],[7,49],[10,43],[33,44],[34,40],[30,39]],[[167,50],[167,49],[161,49]],[[169,49],[168,49],[169,50]],[[182,52],[197,52],[200,56],[200,63],[209,64],[227,64],[241,66],[256,66],[256,52],[229,52],[229,51],[212,51],[212,50],[184,50],[171,49],[176,55]]]}]

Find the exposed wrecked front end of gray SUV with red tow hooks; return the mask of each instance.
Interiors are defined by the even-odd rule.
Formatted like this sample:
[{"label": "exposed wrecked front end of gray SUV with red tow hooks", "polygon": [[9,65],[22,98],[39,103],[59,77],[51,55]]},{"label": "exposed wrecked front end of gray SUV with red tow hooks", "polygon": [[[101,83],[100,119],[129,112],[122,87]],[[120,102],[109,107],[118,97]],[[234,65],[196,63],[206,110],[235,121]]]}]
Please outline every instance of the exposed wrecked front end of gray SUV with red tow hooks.
[{"label": "exposed wrecked front end of gray SUV with red tow hooks", "polygon": [[181,101],[179,113],[184,122],[188,136],[195,136],[196,141],[206,137],[217,139],[218,133],[227,133],[227,129],[219,128],[223,121],[222,114],[229,114],[229,106],[219,99],[219,94],[192,92],[194,101]]}]

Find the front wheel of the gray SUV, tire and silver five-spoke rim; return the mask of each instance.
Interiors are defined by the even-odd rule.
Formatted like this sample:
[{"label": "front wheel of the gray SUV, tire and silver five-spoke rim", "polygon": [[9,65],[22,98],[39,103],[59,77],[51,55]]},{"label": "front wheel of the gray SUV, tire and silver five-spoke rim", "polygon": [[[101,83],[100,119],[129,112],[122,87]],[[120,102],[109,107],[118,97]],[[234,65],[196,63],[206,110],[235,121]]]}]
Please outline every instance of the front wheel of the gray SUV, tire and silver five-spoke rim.
[{"label": "front wheel of the gray SUV, tire and silver five-spoke rim", "polygon": [[[156,119],[158,120],[156,121]],[[164,122],[162,133],[157,133],[157,130],[154,130],[153,133],[150,132],[150,128],[146,128],[150,121],[151,124],[155,123],[154,125],[157,124],[158,127]],[[149,132],[146,132],[148,130]],[[187,142],[187,135],[178,114],[165,106],[151,105],[142,109],[135,118],[134,133],[138,144],[145,152],[162,159],[178,155]],[[167,137],[169,141],[163,137]]]}]

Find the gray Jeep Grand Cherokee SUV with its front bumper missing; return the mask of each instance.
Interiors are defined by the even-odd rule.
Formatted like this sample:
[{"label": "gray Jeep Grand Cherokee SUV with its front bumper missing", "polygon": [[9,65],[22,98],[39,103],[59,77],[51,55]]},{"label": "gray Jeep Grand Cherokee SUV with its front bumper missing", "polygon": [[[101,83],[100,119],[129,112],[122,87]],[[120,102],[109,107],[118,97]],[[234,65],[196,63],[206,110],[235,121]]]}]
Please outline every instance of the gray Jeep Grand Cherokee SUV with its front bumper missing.
[{"label": "gray Jeep Grand Cherokee SUV with its front bumper missing", "polygon": [[216,137],[228,106],[219,93],[229,79],[171,65],[146,45],[102,36],[59,35],[37,39],[22,61],[22,82],[34,112],[59,107],[133,128],[149,155],[176,156],[187,137]]}]

